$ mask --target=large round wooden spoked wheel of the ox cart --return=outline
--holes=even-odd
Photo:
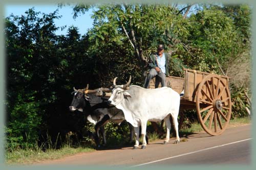
[[[225,79],[211,74],[199,84],[196,94],[197,115],[210,135],[220,135],[231,117],[231,96]]]

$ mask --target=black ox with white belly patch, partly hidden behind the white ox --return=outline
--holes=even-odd
[[[70,111],[81,111],[86,114],[89,122],[95,125],[95,142],[97,147],[100,147],[100,135],[102,136],[103,145],[106,145],[104,125],[110,121],[117,124],[121,124],[124,120],[124,114],[122,110],[117,109],[114,106],[109,106],[106,99],[102,98],[104,96],[103,88],[98,88],[95,90],[88,90],[88,86],[85,89],[74,88],[74,97],[72,103],[69,107]],[[101,95],[101,97],[99,96]],[[133,141],[134,129],[131,124],[129,124],[130,129],[130,143]]]

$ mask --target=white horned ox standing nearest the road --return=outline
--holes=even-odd
[[[146,148],[146,125],[147,121],[160,122],[164,119],[166,125],[166,138],[164,144],[169,142],[170,115],[176,131],[175,143],[180,141],[178,132],[178,114],[180,107],[180,95],[172,88],[162,87],[157,89],[145,89],[132,85],[128,87],[130,80],[125,85],[116,85],[109,99],[109,104],[121,109],[127,122],[135,129],[136,142],[134,149],[139,147],[139,127],[141,126],[141,136],[143,138],[142,149]]]

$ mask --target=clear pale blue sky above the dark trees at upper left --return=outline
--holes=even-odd
[[[57,5],[5,5],[5,17],[9,16],[10,14],[14,15],[25,15],[25,11],[30,8],[35,8],[36,12],[41,13],[52,13],[56,9],[58,9]],[[91,18],[91,11],[86,12],[86,14],[81,14],[76,19],[73,19],[73,6],[64,6],[59,8],[58,15],[62,15],[60,19],[55,20],[55,24],[57,27],[67,26],[66,29],[61,31],[59,29],[56,31],[57,35],[66,35],[67,30],[70,26],[75,26],[79,29],[79,33],[84,35],[87,33],[88,29],[93,27],[93,19]]]

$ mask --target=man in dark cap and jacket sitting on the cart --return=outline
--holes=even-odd
[[[169,56],[164,53],[164,45],[157,46],[157,53],[150,56],[150,71],[145,79],[144,88],[150,87],[150,81],[156,77],[155,88],[161,82],[162,87],[166,87],[165,77],[169,76]]]

